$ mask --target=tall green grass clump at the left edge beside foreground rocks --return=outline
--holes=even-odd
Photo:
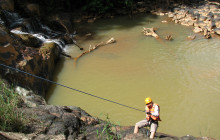
[[[24,132],[27,119],[18,111],[18,95],[0,79],[0,130]]]

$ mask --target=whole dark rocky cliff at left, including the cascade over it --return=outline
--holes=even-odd
[[[54,31],[37,17],[21,17],[14,11],[13,0],[1,1],[0,7],[0,63],[51,80],[62,48],[72,41],[69,32]],[[26,9],[32,13],[39,11],[30,4]],[[58,25],[66,27],[62,22],[57,22]],[[10,83],[45,96],[48,82],[4,66],[0,71]]]

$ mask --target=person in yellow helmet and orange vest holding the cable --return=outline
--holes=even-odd
[[[152,101],[150,97],[145,99],[146,107],[146,119],[139,121],[135,124],[134,134],[138,133],[138,129],[146,126],[150,126],[150,138],[153,139],[157,131],[158,121],[160,120],[160,107]]]

